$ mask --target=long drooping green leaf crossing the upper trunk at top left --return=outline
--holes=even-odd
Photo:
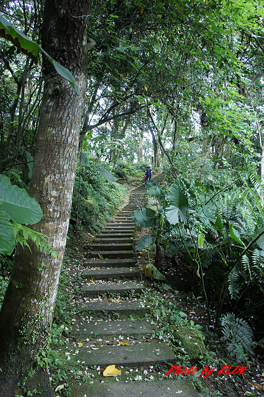
[[[66,67],[58,64],[49,54],[44,51],[41,46],[33,40],[30,40],[24,33],[17,30],[10,22],[0,15],[0,36],[6,40],[10,40],[22,53],[30,57],[35,63],[39,61],[39,51],[46,55],[46,57],[53,64],[57,72],[74,88],[78,95],[80,92],[75,83],[71,72]]]

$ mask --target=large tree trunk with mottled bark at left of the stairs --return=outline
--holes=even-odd
[[[63,261],[87,76],[87,15],[91,0],[46,0],[43,48],[73,74],[81,95],[44,63],[45,86],[29,194],[43,217],[57,258],[18,247],[0,312],[0,397],[54,396],[37,357],[47,350]],[[30,376],[29,376],[30,375]],[[18,386],[19,384],[19,386]]]

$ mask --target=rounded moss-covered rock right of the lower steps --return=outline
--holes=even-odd
[[[176,340],[181,342],[181,346],[190,356],[190,360],[198,361],[200,355],[206,353],[204,336],[194,328],[182,327],[173,333]]]

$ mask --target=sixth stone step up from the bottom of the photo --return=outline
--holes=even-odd
[[[83,270],[83,278],[117,278],[117,277],[138,277],[140,271],[137,267],[101,268]]]

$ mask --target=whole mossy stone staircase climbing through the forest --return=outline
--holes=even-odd
[[[93,241],[87,246],[86,259],[83,263],[81,286],[82,302],[76,304],[77,315],[71,327],[71,334],[76,338],[85,341],[85,338],[94,334],[104,336],[124,335],[130,337],[129,346],[105,344],[94,349],[90,349],[83,343],[82,348],[78,349],[75,357],[85,366],[100,366],[102,371],[111,364],[117,368],[120,366],[149,367],[157,363],[176,363],[175,355],[170,346],[165,342],[155,339],[149,341],[155,328],[146,320],[130,320],[129,314],[135,317],[143,317],[150,308],[144,305],[142,294],[145,286],[140,280],[141,272],[135,266],[133,252],[133,233],[135,223],[132,221],[131,213],[133,210],[147,204],[146,188],[139,187],[132,191],[128,204],[119,211],[113,221],[105,226]],[[137,278],[136,281],[131,279]],[[112,281],[115,280],[115,282]],[[111,280],[111,282],[109,281]],[[127,298],[113,300],[89,300],[85,297],[96,297],[105,294],[109,296],[125,295]],[[141,298],[132,299],[134,294],[141,294]],[[131,297],[131,298],[129,298]],[[90,314],[115,313],[120,317],[112,321],[90,321]],[[89,316],[87,316],[89,315]],[[125,316],[125,318],[124,318]],[[127,316],[127,317],[126,317]],[[95,333],[96,332],[96,333]],[[135,335],[145,337],[146,341],[132,343]],[[103,377],[102,377],[103,378]],[[164,380],[151,382],[107,382],[109,378],[102,379],[105,383],[76,384],[70,386],[70,397],[132,397],[148,396],[162,397],[175,396],[181,393],[182,397],[197,396],[194,388],[186,380]],[[169,383],[168,383],[169,382]],[[179,383],[180,382],[180,383]],[[167,386],[167,384],[169,386]],[[135,388],[135,389],[134,389]]]

